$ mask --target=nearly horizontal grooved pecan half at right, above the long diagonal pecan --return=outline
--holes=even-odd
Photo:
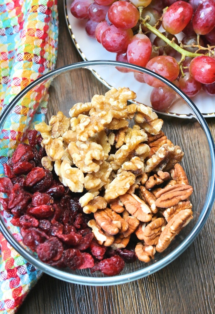
[[[156,193],[155,205],[161,208],[168,208],[177,205],[180,201],[187,199],[193,192],[190,185],[176,184],[165,187]]]

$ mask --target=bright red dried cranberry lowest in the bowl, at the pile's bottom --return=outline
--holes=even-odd
[[[99,270],[107,276],[115,276],[118,275],[124,267],[125,262],[123,259],[120,256],[115,255],[96,263],[95,266],[91,268],[91,272],[93,273],[96,270]]]

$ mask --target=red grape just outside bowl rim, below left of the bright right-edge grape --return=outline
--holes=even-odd
[[[202,83],[197,82],[190,73],[185,73],[184,77],[179,79],[179,88],[188,96],[193,97],[198,94],[202,88]]]

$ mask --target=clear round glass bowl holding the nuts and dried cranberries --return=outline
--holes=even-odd
[[[120,70],[120,71],[119,71]],[[136,73],[136,74],[135,74]],[[24,141],[29,129],[44,119],[49,121],[57,111],[66,116],[71,107],[78,102],[89,102],[98,94],[104,95],[110,87],[129,87],[137,94],[137,104],[150,105],[153,87],[138,82],[134,78],[145,73],[151,82],[166,84],[176,93],[174,104],[168,112],[157,112],[163,119],[163,131],[174,145],[184,152],[181,165],[185,169],[189,183],[193,187],[190,197],[193,205],[193,219],[185,226],[169,247],[162,253],[156,253],[149,263],[136,261],[127,263],[119,275],[105,276],[89,269],[72,271],[66,268],[52,267],[41,262],[8,228],[3,211],[0,215],[0,230],[29,263],[43,272],[68,282],[84,285],[111,285],[129,282],[154,273],[178,257],[196,238],[211,211],[214,201],[214,143],[207,123],[192,101],[174,84],[156,73],[127,63],[114,61],[87,61],[58,68],[38,78],[17,95],[2,113],[0,118],[1,162],[7,161],[13,149]],[[153,84],[152,84],[153,85]],[[47,92],[48,91],[48,92]],[[38,107],[40,101],[40,107]],[[47,110],[46,110],[47,108]],[[10,133],[9,130],[14,132]],[[1,168],[3,169],[3,167]],[[4,176],[1,170],[1,176]]]

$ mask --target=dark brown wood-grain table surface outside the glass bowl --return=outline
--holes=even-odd
[[[82,61],[58,1],[57,67]],[[215,138],[215,118],[207,119]],[[213,211],[194,242],[175,261],[146,278],[108,287],[67,283],[43,274],[18,314],[206,314],[215,313]]]

